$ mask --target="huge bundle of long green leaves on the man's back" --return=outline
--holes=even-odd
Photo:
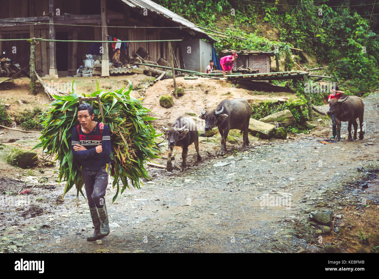
[[[97,86],[97,89],[99,87]],[[144,161],[157,158],[157,149],[154,138],[156,134],[153,125],[157,118],[152,117],[149,109],[145,108],[141,100],[129,95],[132,83],[129,82],[128,90],[121,88],[114,92],[96,91],[91,95],[83,94],[83,97],[100,96],[104,124],[107,124],[111,134],[111,176],[114,177],[113,188],[117,186],[117,192],[113,197],[116,200],[120,181],[122,183],[121,194],[129,185],[140,188],[140,178],[149,178],[144,168]],[[49,105],[52,106],[47,118],[42,124],[41,143],[34,147],[42,147],[50,156],[55,155],[59,160],[59,180],[66,181],[64,194],[75,184],[77,196],[79,192],[84,196],[83,178],[81,176],[80,161],[74,160],[71,147],[72,128],[78,125],[78,99],[77,93],[69,96],[53,96]],[[102,121],[99,104],[97,101],[88,102],[94,108],[94,121]],[[46,152],[45,151],[45,152]],[[63,194],[63,196],[64,196]]]

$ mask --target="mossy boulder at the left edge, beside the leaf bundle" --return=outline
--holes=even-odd
[[[37,153],[20,149],[17,146],[0,144],[0,160],[23,169],[36,166]]]

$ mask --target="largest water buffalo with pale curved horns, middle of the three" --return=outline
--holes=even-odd
[[[243,132],[243,147],[249,145],[247,136],[249,129],[249,120],[252,109],[249,103],[242,98],[223,100],[215,111],[205,111],[202,109],[199,118],[205,119],[205,130],[209,131],[217,126],[221,135],[220,155],[225,155],[226,138],[229,130],[240,129]]]

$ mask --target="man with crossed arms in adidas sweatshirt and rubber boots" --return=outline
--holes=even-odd
[[[111,138],[109,128],[95,117],[89,103],[78,107],[79,125],[72,129],[72,155],[80,160],[81,172],[86,189],[89,211],[95,232],[88,241],[94,241],[109,234],[108,214],[105,206],[105,190],[111,165]]]

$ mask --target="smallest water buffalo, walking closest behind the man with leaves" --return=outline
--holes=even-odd
[[[183,171],[186,168],[188,146],[190,146],[192,143],[195,144],[197,161],[201,161],[201,156],[199,154],[199,132],[197,132],[196,123],[193,119],[179,116],[170,128],[163,126],[163,129],[168,134],[168,171],[172,171],[171,154],[175,146],[180,146],[183,149],[182,168],[180,169],[180,171]]]

